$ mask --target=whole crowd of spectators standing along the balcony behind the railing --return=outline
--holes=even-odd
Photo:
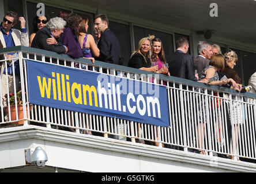
[[[18,21],[20,22],[20,30],[13,28]],[[25,28],[24,17],[17,17],[17,13],[14,11],[7,11],[0,25],[0,47],[23,45],[65,53],[74,59],[85,57],[91,59],[92,63],[95,60],[99,60],[107,63],[123,64],[119,41],[111,29],[108,28],[108,17],[104,14],[99,14],[94,18],[96,40],[91,34],[88,34],[88,18],[81,17],[76,13],[66,14],[65,20],[61,17],[50,19],[47,16],[35,17],[33,23],[33,33],[29,36]],[[211,45],[206,41],[199,41],[198,56],[193,58],[187,53],[189,51],[189,41],[185,37],[176,40],[176,47],[175,53],[165,56],[164,45],[159,38],[153,35],[144,37],[138,42],[137,49],[131,53],[128,66],[167,76],[190,79],[208,85],[219,85],[238,91],[242,90],[242,80],[234,70],[238,61],[238,56],[234,51],[222,55],[219,45]],[[7,60],[13,58],[14,56],[11,54],[6,55]],[[3,57],[0,59],[3,59]],[[18,69],[17,66],[18,62],[14,62],[15,69]],[[11,86],[9,85],[9,93],[14,93],[12,67],[13,65],[7,65],[7,68],[5,68],[5,64],[1,65],[2,94],[7,93],[5,78],[8,78],[9,84],[12,84]],[[18,70],[16,74],[18,74]],[[256,72],[249,81],[249,84],[253,87],[251,90],[253,93],[256,91],[255,75]],[[17,83],[19,79],[16,78],[15,81]],[[204,93],[204,91],[201,91],[201,93]],[[207,121],[205,105],[202,103],[199,104],[201,106],[199,109],[202,109],[199,114],[202,114],[202,116],[197,128],[198,135],[201,135],[198,140],[204,138],[203,129]],[[202,108],[203,106],[204,108]],[[234,108],[242,107],[238,104],[234,105]],[[226,109],[228,109],[228,105]],[[238,111],[233,109],[232,112]],[[232,117],[235,117],[232,120],[234,126],[243,123],[242,114],[232,115]],[[228,116],[227,119],[229,127],[231,127],[231,120]],[[238,128],[234,129],[238,130]],[[235,135],[238,136],[238,132]],[[205,154],[205,152],[201,151],[200,154]]]

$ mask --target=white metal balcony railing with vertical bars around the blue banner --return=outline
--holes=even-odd
[[[191,149],[205,151],[210,156],[217,153],[231,155],[235,159],[238,157],[256,159],[255,94],[238,93],[224,87],[204,85],[173,76],[154,75],[152,72],[99,61],[92,64],[88,59],[74,60],[67,55],[58,55],[41,49],[22,46],[0,49],[0,53],[5,55],[13,52],[17,52],[18,57],[12,59],[12,64],[14,60],[18,60],[20,68],[19,74],[14,69],[12,72],[18,78],[14,78],[11,84],[9,79],[5,78],[5,82],[9,85],[1,85],[0,96],[1,99],[5,99],[2,88],[6,87],[7,94],[13,90],[14,97],[17,97],[16,91],[19,89],[13,84],[18,79],[23,99],[22,109],[29,109],[29,113],[24,111],[23,117],[18,117],[20,111],[18,111],[18,100],[15,99],[13,105],[15,114],[11,116],[12,105],[7,95],[6,102],[1,101],[0,125],[2,127],[18,123],[24,126],[36,124],[49,129],[57,128],[76,133],[91,131],[97,136],[139,141],[186,152]],[[150,84],[153,81],[156,86],[164,86],[167,91],[168,127],[116,117],[114,111],[110,114],[111,116],[100,116],[50,105],[32,104],[29,102],[28,60],[48,63],[51,66],[62,66],[65,70],[91,71]],[[6,59],[1,60],[1,63],[5,68],[10,64]],[[3,72],[1,72],[2,75]],[[0,82],[2,80],[1,77]],[[10,89],[12,85],[14,89]],[[216,94],[220,97],[216,97]],[[201,123],[201,118],[205,121],[204,124]]]

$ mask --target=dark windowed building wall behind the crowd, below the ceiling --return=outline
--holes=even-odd
[[[32,33],[32,20],[36,15],[37,3],[42,1],[35,0],[0,0],[0,6],[3,16],[3,11],[14,10],[19,15],[27,17],[27,25],[29,33]],[[160,24],[146,20],[141,17],[134,17],[129,14],[119,14],[116,12],[110,12],[106,9],[102,9],[92,6],[87,6],[85,3],[69,2],[69,1],[49,1],[43,2],[46,5],[46,14],[51,17],[57,16],[59,10],[65,9],[71,12],[80,13],[82,16],[89,18],[89,33],[93,33],[93,16],[98,13],[107,14],[110,18],[110,28],[116,34],[121,44],[122,54],[125,57],[124,65],[127,66],[131,53],[137,48],[138,40],[142,37],[148,36],[148,34],[155,34],[159,37],[164,44],[164,50],[166,54],[174,53],[175,40],[181,34],[186,36],[190,40],[190,53],[194,57],[197,56],[197,43],[198,41],[205,40],[203,35],[195,33],[194,30],[186,30],[181,28],[175,28],[171,24]],[[21,8],[22,7],[22,8]],[[0,16],[1,16],[0,14]],[[1,17],[2,17],[1,16]],[[18,25],[17,25],[18,26]],[[18,28],[18,27],[17,27]],[[243,43],[243,41],[229,40],[227,38],[212,36],[210,43],[219,44],[225,51],[229,48],[235,49],[238,53],[238,64],[235,70],[238,71],[240,78],[243,80],[243,84],[247,85],[250,76],[255,72],[256,68],[256,45]]]

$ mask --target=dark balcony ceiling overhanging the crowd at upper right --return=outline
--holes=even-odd
[[[77,3],[189,30],[213,30],[216,36],[256,43],[256,1],[253,0],[75,0]],[[218,17],[210,17],[217,3]],[[117,17],[118,18],[118,17]]]

